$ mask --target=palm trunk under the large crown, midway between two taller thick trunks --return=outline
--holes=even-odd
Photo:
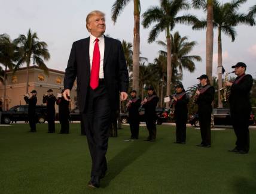
[[[166,29],[166,42],[167,42],[167,83],[166,83],[166,96],[170,96],[170,84],[172,82],[172,44],[170,40],[170,31]],[[166,103],[166,108],[169,107],[169,102]]]

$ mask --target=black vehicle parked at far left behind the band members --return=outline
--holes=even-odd
[[[36,119],[37,123],[44,123],[47,120],[46,106],[36,105]],[[17,105],[10,108],[8,111],[2,112],[2,122],[9,124],[11,121],[28,121],[28,105]]]

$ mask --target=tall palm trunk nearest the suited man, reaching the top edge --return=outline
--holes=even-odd
[[[139,0],[134,0],[134,29],[133,29],[133,80],[132,80],[132,87],[136,91],[139,91],[139,20],[140,20],[140,10],[139,10]]]

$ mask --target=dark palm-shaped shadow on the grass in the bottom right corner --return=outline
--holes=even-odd
[[[251,179],[247,177],[235,177],[233,186],[237,194],[256,193],[256,164],[252,165]]]

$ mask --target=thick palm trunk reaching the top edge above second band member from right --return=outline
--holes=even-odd
[[[212,55],[214,48],[214,10],[213,0],[207,1],[207,30],[206,30],[206,75],[212,85]]]

